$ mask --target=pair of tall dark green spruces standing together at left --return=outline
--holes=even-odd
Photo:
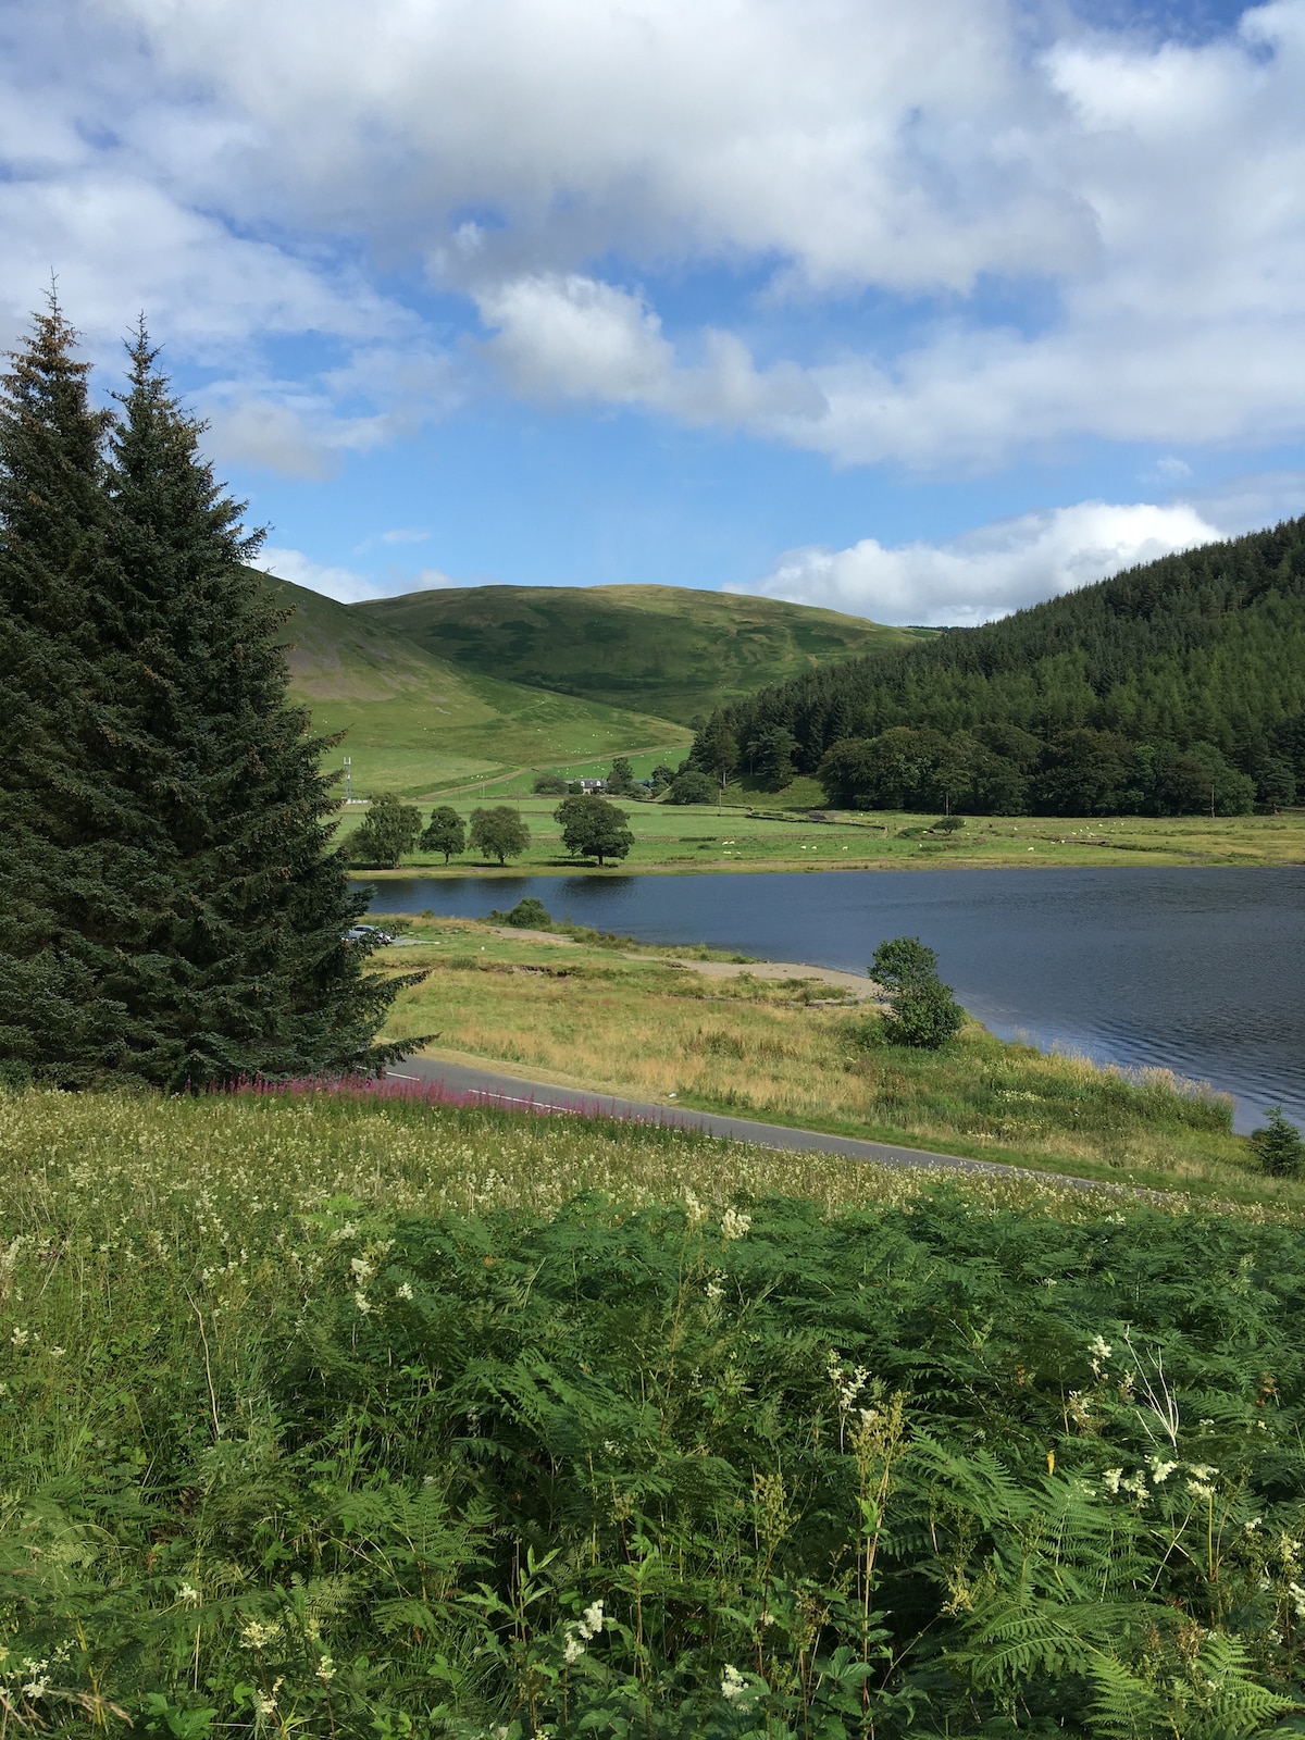
[[[400,983],[345,933],[336,738],[141,324],[115,409],[54,296],[0,379],[0,1074],[371,1070]]]

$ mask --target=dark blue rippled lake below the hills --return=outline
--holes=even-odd
[[[1305,868],[844,870],[776,875],[405,877],[372,912],[484,917],[534,894],[651,943],[865,971],[887,936],[938,950],[1002,1037],[1164,1065],[1305,1124]]]

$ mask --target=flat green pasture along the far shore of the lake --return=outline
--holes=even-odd
[[[656,757],[644,757],[654,760]],[[600,767],[602,771],[602,767]],[[517,790],[527,781],[515,781]],[[503,802],[512,788],[485,786],[452,802],[463,814],[484,804]],[[621,867],[607,875],[630,870],[828,870],[828,868],[1000,868],[1046,865],[1296,865],[1305,863],[1305,811],[1284,816],[1178,816],[1150,820],[1114,818],[1028,818],[981,816],[950,839],[931,833],[936,814],[828,814],[813,821],[806,809],[780,811],[774,799],[757,793],[736,795],[733,806],[715,807],[623,802],[635,844]],[[807,795],[807,793],[804,793]],[[505,873],[546,875],[574,870],[560,846],[553,821],[557,799],[512,797],[531,828],[529,851]],[[760,814],[750,816],[755,804]],[[358,825],[362,813],[346,814],[343,837]],[[458,858],[451,875],[468,868],[498,873],[498,865],[478,865]],[[404,873],[444,873],[444,860],[414,853],[404,860]],[[371,872],[369,872],[371,873]],[[385,872],[376,872],[385,875]],[[595,875],[600,872],[593,872]]]

